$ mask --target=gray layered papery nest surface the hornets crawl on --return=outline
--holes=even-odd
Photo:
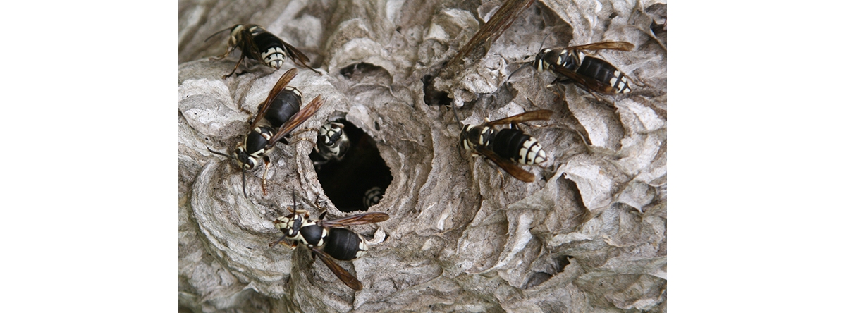
[[[464,124],[537,109],[549,122],[526,127],[547,151],[526,184],[459,154],[448,107],[423,101],[422,78],[468,41],[501,3],[429,0],[180,2],[179,304],[212,311],[665,311],[667,299],[666,4],[562,1],[532,4],[491,51],[436,86],[455,97]],[[206,148],[231,151],[285,70],[250,63],[222,80],[238,53],[221,61],[236,23],[263,25],[308,55],[321,74],[291,82],[304,104],[326,105],[300,129],[345,118],[376,140],[393,182],[387,222],[354,227],[372,238],[360,260],[339,262],[364,284],[354,292],[305,249],[268,244],[272,220],[292,191],[338,211],[321,188],[307,140],[270,154],[247,173]],[[614,97],[614,107],[552,74],[519,68],[545,47],[629,41],[632,52],[600,52],[647,86]],[[357,65],[358,64],[358,65]],[[242,66],[242,69],[244,67]],[[341,74],[343,73],[343,74]],[[564,91],[566,90],[566,91]],[[590,145],[585,144],[585,140]],[[504,178],[504,181],[503,181]],[[304,206],[312,215],[316,208]]]

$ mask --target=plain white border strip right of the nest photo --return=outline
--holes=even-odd
[[[668,4],[673,312],[843,310],[844,7]]]

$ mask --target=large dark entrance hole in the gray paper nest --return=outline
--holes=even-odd
[[[349,148],[343,157],[328,160],[317,150],[312,151],[309,157],[315,164],[317,179],[338,210],[367,211],[382,200],[393,180],[391,169],[379,155],[376,141],[370,135],[346,120],[334,123],[343,124]]]

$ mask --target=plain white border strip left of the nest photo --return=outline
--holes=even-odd
[[[3,310],[178,310],[178,13],[0,5]]]

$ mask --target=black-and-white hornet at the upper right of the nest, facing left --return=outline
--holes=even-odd
[[[541,43],[541,47],[542,47]],[[631,51],[634,45],[625,41],[602,41],[582,46],[543,49],[531,64],[539,72],[551,70],[558,75],[553,82],[574,83],[596,96],[593,92],[613,95],[629,93],[629,77],[607,61],[585,54],[586,50]],[[516,72],[516,71],[515,71]],[[599,96],[596,96],[599,99]]]

